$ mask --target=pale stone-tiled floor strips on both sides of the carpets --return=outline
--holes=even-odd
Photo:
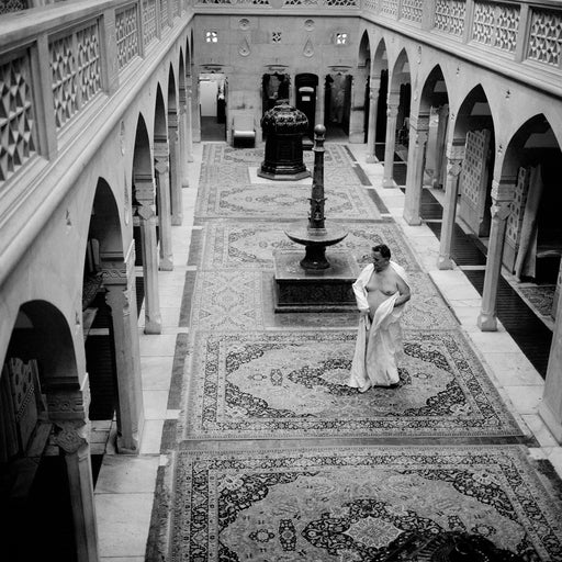
[[[140,314],[139,338],[146,418],[140,454],[115,456],[110,445],[110,436],[95,487],[100,557],[104,561],[138,562],[145,560],[145,557],[148,560],[150,557],[146,553],[154,552],[154,542],[162,540],[161,536],[149,535],[149,528],[157,474],[173,459],[172,454],[161,453],[172,445],[169,440],[166,442],[170,436],[167,428],[180,415],[177,393],[178,378],[183,373],[183,364],[175,353],[178,338],[186,338],[189,327],[187,324],[184,327],[180,326],[178,311],[187,273],[194,269],[191,263],[188,266],[188,256],[192,235],[196,236],[200,231],[199,226],[193,225],[193,217],[202,148],[201,144],[194,146],[194,161],[189,166],[190,187],[183,190],[183,224],[172,228],[175,270],[159,272],[162,334],[144,335],[144,316]],[[397,189],[381,188],[383,168],[380,164],[364,164],[366,146],[349,145],[349,148],[372,183],[371,189],[386,205],[389,214],[405,235],[418,261],[461,323],[499,395],[510,406],[525,432],[536,438],[538,446],[530,448],[531,456],[536,459],[548,459],[562,476],[562,449],[537,412],[542,395],[542,379],[502,326],[497,333],[483,334],[477,329],[477,292],[461,270],[439,271],[436,268],[438,240],[435,235],[426,226],[412,227],[404,222],[403,193]],[[306,324],[306,318],[303,322]],[[157,497],[159,502],[165,499],[162,495]],[[161,528],[159,530],[160,533],[165,531]]]

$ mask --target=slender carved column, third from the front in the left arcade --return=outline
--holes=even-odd
[[[158,296],[158,241],[154,180],[148,175],[135,175],[135,198],[140,220],[140,247],[145,278],[145,334],[161,334],[160,300]]]

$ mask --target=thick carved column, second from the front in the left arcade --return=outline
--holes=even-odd
[[[120,256],[102,255],[105,302],[111,308],[117,375],[117,450],[138,453],[144,425],[140,352],[137,330],[135,290],[135,249],[125,260]]]

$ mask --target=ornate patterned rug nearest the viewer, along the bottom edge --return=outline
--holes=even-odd
[[[562,512],[519,447],[180,451],[175,562],[378,562],[416,531],[562,560]],[[557,506],[558,503],[558,506]]]

